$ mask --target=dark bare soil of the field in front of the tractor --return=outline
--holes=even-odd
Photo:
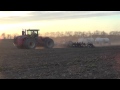
[[[0,41],[0,79],[119,79],[120,46],[17,49]]]

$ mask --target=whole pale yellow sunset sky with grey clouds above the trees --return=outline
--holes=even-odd
[[[0,32],[120,30],[120,11],[0,11]]]

